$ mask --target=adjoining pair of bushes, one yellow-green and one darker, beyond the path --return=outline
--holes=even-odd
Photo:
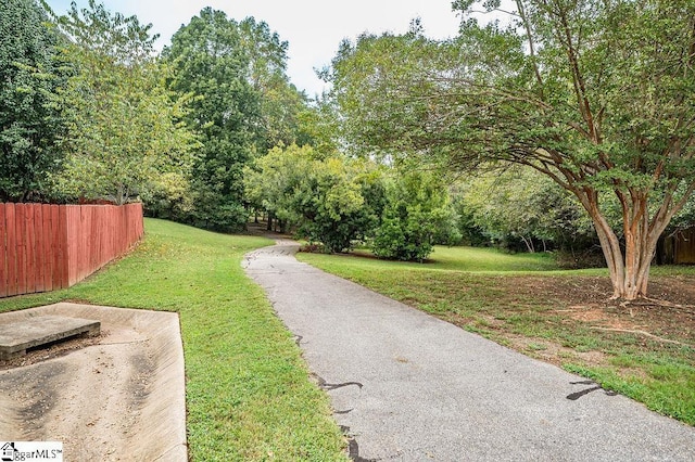
[[[421,261],[460,239],[448,193],[433,175],[394,174],[305,145],[276,147],[244,171],[247,197],[330,253],[370,239],[383,258]]]

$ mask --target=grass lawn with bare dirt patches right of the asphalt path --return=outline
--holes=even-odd
[[[609,304],[605,269],[560,271],[548,255],[467,247],[437,247],[422,265],[298,258],[695,425],[695,307]],[[695,272],[660,267],[653,280],[687,288]]]

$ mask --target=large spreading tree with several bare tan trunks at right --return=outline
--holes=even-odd
[[[614,297],[646,296],[657,240],[695,188],[695,1],[518,0],[486,25],[471,14],[500,1],[453,4],[455,39],[415,27],[343,44],[332,78],[351,140],[547,175],[591,216]]]

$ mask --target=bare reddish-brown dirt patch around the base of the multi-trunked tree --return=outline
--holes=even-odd
[[[654,299],[629,304],[609,299],[612,290],[605,277],[505,277],[490,280],[489,285],[500,293],[489,301],[497,307],[495,316],[532,313],[539,317],[539,323],[554,325],[558,331],[589,329],[599,341],[630,336],[644,351],[673,346],[695,348],[695,277],[653,277],[649,291]],[[442,318],[462,328],[482,325],[493,339],[555,364],[602,367],[611,360],[599,349],[564,346],[558,337],[515,333],[514,325],[485,312],[447,312]],[[621,346],[621,341],[609,341]]]

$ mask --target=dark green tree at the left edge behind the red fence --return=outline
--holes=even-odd
[[[61,39],[35,0],[0,8],[0,201],[46,197],[60,167],[63,120],[56,89],[66,73]]]

